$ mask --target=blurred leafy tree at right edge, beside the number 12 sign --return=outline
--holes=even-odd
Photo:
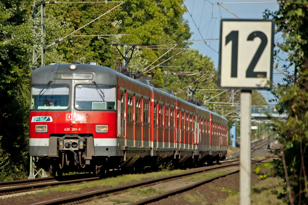
[[[286,180],[286,188],[281,194],[290,204],[308,203],[308,185],[306,167],[308,145],[308,1],[288,0],[279,3],[279,10],[266,11],[265,17],[273,17],[276,32],[282,32],[284,42],[279,45],[288,52],[289,65],[294,69],[284,80],[286,85],[279,85],[275,94],[279,99],[279,112],[288,112],[286,121],[275,120],[277,132],[281,136],[283,147],[282,160],[276,160],[278,175]],[[276,52],[278,54],[278,52]],[[276,65],[277,66],[277,65]]]

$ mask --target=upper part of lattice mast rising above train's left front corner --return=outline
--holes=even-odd
[[[41,66],[45,65],[45,4],[45,1],[34,1],[33,3],[32,17],[34,20],[34,45],[32,55],[32,69],[36,69],[38,67],[39,61],[41,61]]]

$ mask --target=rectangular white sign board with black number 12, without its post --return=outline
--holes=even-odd
[[[218,87],[270,89],[274,21],[222,19]]]

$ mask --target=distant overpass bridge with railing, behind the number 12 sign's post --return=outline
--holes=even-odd
[[[239,112],[239,116],[241,116],[240,106],[238,106],[238,112]],[[268,117],[265,113],[268,113],[270,114],[270,116],[276,117],[279,120],[286,120],[288,117],[286,112],[279,114],[279,112],[276,109],[276,105],[253,105],[251,106],[251,119],[267,120]]]

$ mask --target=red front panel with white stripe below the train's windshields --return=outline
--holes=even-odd
[[[106,126],[98,133],[100,125]],[[48,156],[50,137],[66,134],[93,136],[95,156],[117,154],[116,112],[30,112],[29,133],[30,156]]]

